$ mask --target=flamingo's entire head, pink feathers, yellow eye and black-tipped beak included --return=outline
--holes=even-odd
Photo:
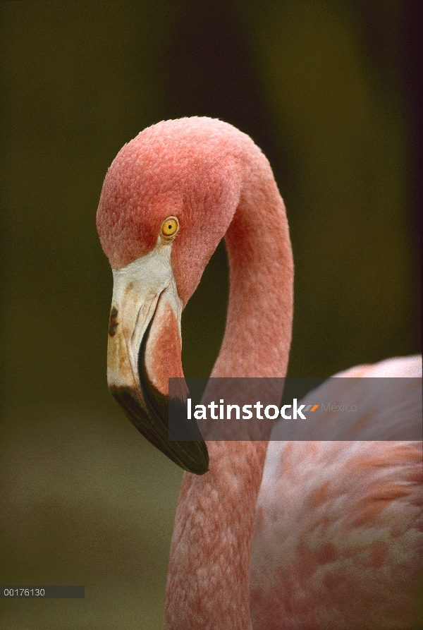
[[[181,313],[240,199],[243,138],[205,118],[149,127],[114,159],[97,210],[114,275],[109,389],[149,442],[197,474],[208,470],[207,446],[199,431],[196,441],[169,440],[168,378],[183,377]]]

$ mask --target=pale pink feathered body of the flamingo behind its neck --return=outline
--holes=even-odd
[[[363,375],[421,377],[422,358],[338,376]],[[421,401],[415,380],[396,423],[421,423]],[[269,442],[252,551],[253,627],[419,627],[422,507],[421,442]]]

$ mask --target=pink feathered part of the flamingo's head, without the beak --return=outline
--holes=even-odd
[[[231,223],[252,140],[208,118],[163,121],[125,145],[112,162],[97,210],[97,230],[113,269],[150,252],[166,217],[180,229],[171,261],[187,303]]]

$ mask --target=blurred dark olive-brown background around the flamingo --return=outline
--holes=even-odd
[[[143,128],[213,116],[264,150],[295,257],[289,375],[419,351],[416,7],[392,0],[2,1],[0,600],[8,630],[159,629],[182,471],[109,395],[95,213]],[[223,245],[183,315],[207,376]],[[204,342],[207,329],[207,342]]]

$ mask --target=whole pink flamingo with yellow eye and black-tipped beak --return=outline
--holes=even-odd
[[[230,292],[212,377],[286,375],[293,256],[261,150],[219,120],[151,126],[107,171],[97,230],[114,275],[109,389],[147,440],[185,471],[164,627],[416,627],[419,442],[168,440],[168,377],[183,377],[180,316],[223,236]],[[421,376],[422,359],[345,375]],[[419,396],[417,387],[407,408],[414,421]]]

